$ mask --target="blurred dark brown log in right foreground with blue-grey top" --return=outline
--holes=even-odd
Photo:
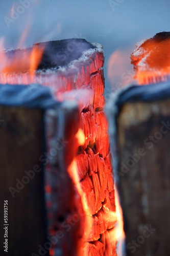
[[[169,88],[129,87],[108,106],[128,255],[170,251]]]

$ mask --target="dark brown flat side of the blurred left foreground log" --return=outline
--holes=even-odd
[[[38,253],[39,244],[44,245],[47,233],[44,174],[39,161],[45,148],[43,113],[38,109],[0,106],[0,116],[4,120],[0,126],[1,255],[6,253],[3,208],[4,200],[8,200],[7,254],[30,256]],[[38,172],[33,172],[34,178],[28,178],[25,170],[34,169]],[[16,179],[22,184],[17,186]],[[17,190],[11,193],[10,187]]]

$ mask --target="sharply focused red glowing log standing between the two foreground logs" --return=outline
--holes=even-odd
[[[38,88],[38,83],[53,89],[57,100],[61,102],[70,100],[78,103],[79,121],[75,121],[70,114],[70,122],[72,120],[76,127],[77,125],[79,127],[77,136],[78,140],[81,141],[80,146],[77,145],[75,150],[71,147],[75,133],[67,129],[65,135],[69,134],[71,142],[65,147],[67,153],[60,160],[64,163],[68,158],[66,164],[70,163],[72,158],[74,160],[69,166],[67,164],[66,176],[69,174],[76,187],[75,193],[77,193],[78,199],[81,197],[81,200],[78,200],[75,205],[75,211],[80,212],[79,208],[81,209],[81,204],[83,205],[82,213],[79,214],[80,230],[77,230],[77,236],[80,240],[78,242],[79,250],[77,254],[71,254],[68,250],[68,245],[73,239],[73,237],[71,239],[69,237],[72,236],[72,232],[75,232],[77,227],[77,225],[72,225],[71,229],[74,230],[65,234],[64,242],[57,244],[53,248],[52,254],[57,255],[57,251],[61,250],[64,256],[93,256],[106,255],[106,253],[109,253],[110,256],[116,255],[116,241],[112,243],[114,238],[111,240],[109,236],[105,236],[106,232],[114,228],[116,218],[113,214],[115,213],[115,202],[107,133],[108,124],[103,111],[105,99],[102,46],[90,44],[84,39],[65,39],[36,44],[27,49],[5,50],[1,55],[1,58],[4,58],[4,66],[0,74],[1,83],[25,84],[30,93]],[[18,68],[17,63],[21,62],[24,62],[24,65],[22,68]],[[67,118],[69,119],[69,113]],[[55,127],[53,117],[51,117],[51,122]],[[47,126],[50,125],[47,123]],[[53,137],[55,129],[49,130],[49,133],[48,152],[51,149],[53,141],[51,137]],[[63,231],[62,225],[59,225],[59,220],[62,222],[64,212],[66,215],[68,214],[65,205],[66,200],[62,199],[62,195],[63,188],[66,189],[66,194],[69,190],[67,186],[62,186],[63,183],[55,181],[53,178],[53,168],[56,165],[58,166],[57,162],[52,162],[50,166],[55,195],[52,198],[53,202],[56,198],[56,204],[49,202],[49,205],[56,205],[57,207],[54,211],[48,212],[48,232],[50,230],[51,236],[53,236],[51,230]],[[62,166],[59,166],[59,169],[61,169],[61,179],[64,182],[65,173],[62,171]],[[47,186],[47,188],[49,187]],[[72,201],[71,193],[69,197],[67,198],[68,202]],[[54,225],[56,220],[57,224]],[[69,221],[71,218],[66,224],[70,224]],[[81,236],[82,230],[83,236]],[[74,245],[72,243],[71,248],[74,248]]]

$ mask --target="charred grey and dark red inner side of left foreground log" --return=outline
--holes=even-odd
[[[57,255],[58,250],[64,255],[77,255],[79,240],[83,236],[84,216],[79,214],[83,211],[82,202],[68,173],[68,167],[77,153],[78,142],[75,135],[79,127],[78,114],[75,103],[65,101],[59,109],[45,113],[49,156],[45,169],[47,230],[51,239],[55,240],[51,250],[54,255]]]

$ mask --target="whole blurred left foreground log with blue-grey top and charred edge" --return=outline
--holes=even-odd
[[[70,146],[72,152],[77,146],[78,108],[74,102],[56,102],[50,90],[43,87],[30,94],[25,86],[1,85],[0,95],[0,201],[3,208],[4,200],[8,200],[7,251],[10,255],[39,255],[46,251],[48,255],[53,247],[52,255],[57,244],[65,255],[74,255],[82,236],[80,219],[75,214],[82,204],[67,167],[74,158]],[[69,219],[75,222],[68,232]],[[0,225],[4,230],[3,215]],[[0,236],[4,255],[4,233]],[[70,243],[65,246],[67,239]]]

